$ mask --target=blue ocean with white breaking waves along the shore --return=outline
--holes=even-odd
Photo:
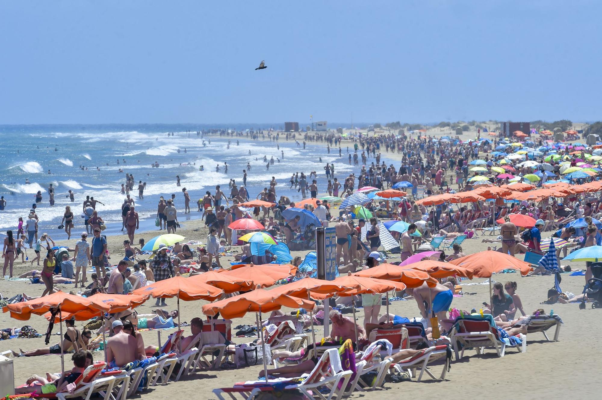
[[[204,129],[219,127],[207,126]],[[343,148],[343,157],[339,157],[338,149],[331,149],[331,154],[327,154],[325,146],[307,142],[304,150],[302,140],[300,147],[297,147],[293,140],[287,142],[285,135],[280,136],[278,149],[276,142],[268,140],[267,134],[265,140],[259,136],[257,141],[236,135],[209,135],[201,139],[196,132],[188,134],[184,132],[185,129],[203,128],[163,124],[140,127],[0,126],[5,149],[0,162],[0,195],[7,201],[5,210],[0,211],[0,229],[14,229],[16,233],[18,218],[26,219],[35,202],[36,192],[41,190],[43,200],[36,210],[40,232],[48,232],[55,239],[66,238],[65,232],[57,229],[57,226],[65,206],[70,205],[75,214],[72,235],[78,237],[79,232],[85,230],[84,219],[79,217],[85,196],[93,196],[104,203],[98,204],[96,210],[107,223],[105,233],[120,231],[121,205],[125,198],[120,193],[120,187],[122,183],[125,184],[126,173],[134,175],[136,184],[130,195],[135,199],[141,220],[140,229],[147,230],[154,228],[160,196],[167,199],[175,193],[180,221],[200,217],[197,199],[202,198],[206,190],[214,193],[216,185],[220,185],[223,192],[229,195],[230,179],[234,179],[238,186],[243,184],[243,169],[246,169],[247,163],[251,165],[250,171],[247,171],[247,190],[251,198],[255,198],[272,177],[276,177],[278,197],[285,195],[293,201],[300,200],[300,193],[294,187],[289,189],[290,177],[294,172],[309,174],[311,171],[318,173],[318,193],[320,196],[326,195],[323,169],[326,162],[335,164],[335,176],[339,178],[351,172],[358,175],[359,172],[357,166],[349,165],[346,147]],[[232,126],[232,129],[241,130],[243,127]],[[168,132],[173,132],[174,136],[168,136]],[[298,133],[297,139],[302,135]],[[231,141],[229,148],[228,141]],[[281,151],[284,151],[284,159]],[[268,160],[271,157],[281,160],[267,170],[264,156]],[[320,157],[322,163],[318,162]],[[383,160],[388,162],[386,158]],[[152,166],[155,162],[159,163],[158,168]],[[228,174],[224,172],[224,162],[228,163]],[[218,164],[220,172],[216,172]],[[204,166],[204,171],[199,171],[200,165]],[[123,169],[123,172],[119,172],[119,169]],[[51,173],[48,174],[48,171]],[[176,186],[176,175],[181,179],[181,187]],[[139,180],[146,182],[144,199],[138,199]],[[55,187],[54,206],[49,204],[47,190],[50,183]],[[187,188],[191,197],[192,212],[186,216],[182,187]],[[74,202],[69,200],[68,190],[75,192]]]

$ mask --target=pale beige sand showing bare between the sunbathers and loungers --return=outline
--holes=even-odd
[[[445,133],[440,133],[444,135]],[[465,134],[465,137],[469,137]],[[470,136],[471,137],[471,136]],[[388,157],[398,157],[397,154]],[[193,213],[196,211],[193,211]],[[205,243],[206,229],[200,220],[186,222],[183,215],[180,216],[182,228],[178,231],[188,239],[200,239]],[[200,230],[197,230],[200,229]],[[136,235],[136,240],[144,237],[146,240],[154,237],[158,231],[141,232]],[[548,237],[551,232],[545,232]],[[108,238],[108,244],[114,259],[119,259],[123,255],[122,241],[126,235],[116,235]],[[467,239],[462,247],[467,254],[486,250],[488,244],[481,242],[481,237]],[[75,246],[75,240],[64,241],[60,244],[69,244]],[[295,255],[305,255],[306,252],[294,252]],[[231,258],[224,260],[228,265]],[[387,261],[399,261],[399,258],[391,258]],[[585,262],[571,262],[573,268],[585,268]],[[29,263],[15,264],[14,274],[18,275],[30,270]],[[563,274],[562,289],[576,294],[583,289],[585,279],[583,276],[571,277]],[[435,398],[437,396],[447,399],[464,399],[467,396],[497,396],[502,398],[527,399],[527,398],[577,398],[583,395],[591,395],[598,389],[597,379],[599,372],[596,371],[596,355],[602,354],[600,349],[600,338],[598,330],[602,328],[602,318],[600,310],[592,310],[588,305],[586,310],[580,311],[576,304],[555,304],[553,306],[540,305],[545,300],[547,289],[553,286],[553,277],[524,277],[521,278],[517,273],[497,274],[494,279],[498,282],[507,282],[515,280],[518,282],[517,293],[523,300],[524,309],[527,313],[536,308],[542,307],[546,312],[550,307],[556,314],[562,317],[565,324],[560,330],[559,342],[547,342],[541,333],[529,335],[527,337],[527,352],[517,353],[514,348],[507,350],[506,356],[498,359],[495,352],[486,350],[483,356],[477,356],[474,351],[467,351],[461,361],[454,360],[452,369],[448,372],[445,381],[425,381],[423,383],[407,382],[402,384],[385,384],[384,390],[375,392],[354,393],[353,398],[363,397],[366,400],[373,399],[397,399],[400,396],[420,396]],[[482,282],[483,279],[474,279],[472,282]],[[463,283],[472,283],[466,281]],[[64,291],[69,291],[73,285],[57,285]],[[29,295],[39,295],[42,293],[44,285],[29,284],[28,282],[10,282],[0,280],[0,292],[5,296],[12,296],[20,292],[26,292]],[[475,295],[465,295],[455,298],[453,306],[461,309],[480,308],[482,302],[488,301],[488,285],[467,286],[469,292],[476,292]],[[175,309],[176,300],[167,300],[168,309]],[[191,318],[200,316],[200,308],[205,304],[203,301],[181,302],[181,320],[190,321]],[[149,300],[146,304],[138,308],[141,314],[150,314],[151,306],[154,306],[154,300]],[[285,312],[290,310],[285,309]],[[385,312],[383,307],[381,312]],[[416,303],[411,301],[392,302],[390,312],[397,315],[414,317],[419,314]],[[363,321],[363,312],[357,313],[359,322]],[[255,315],[249,314],[244,318],[234,320],[232,326],[238,324],[254,324]],[[0,328],[22,326],[29,324],[40,333],[46,331],[48,321],[44,318],[34,315],[29,321],[22,322],[11,319],[7,313],[0,314]],[[84,323],[76,323],[81,328]],[[58,332],[58,326],[55,327]],[[161,331],[161,338],[173,330]],[[185,328],[185,334],[190,335],[190,329]],[[317,338],[322,337],[321,329],[317,330]],[[143,332],[145,344],[157,344],[157,332]],[[235,342],[243,343],[252,338],[236,338]],[[58,336],[52,336],[50,345],[58,342]],[[0,351],[8,349],[33,350],[34,348],[45,347],[43,338],[38,339],[10,339],[0,341]],[[67,356],[68,357],[68,356]],[[102,359],[101,351],[95,352],[96,359]],[[60,371],[59,356],[38,356],[38,357],[20,357],[13,359],[15,369],[15,383],[21,384],[31,374],[43,374],[46,371]],[[69,358],[66,359],[66,366],[70,366]],[[70,367],[69,367],[70,368]],[[441,366],[435,366],[433,373],[437,376],[441,372]],[[171,382],[167,385],[158,385],[152,387],[147,393],[143,394],[145,399],[163,399],[167,396],[178,398],[179,396],[190,395],[193,390],[202,390],[202,393],[194,398],[215,399],[211,390],[216,387],[232,386],[237,381],[244,381],[256,378],[261,369],[259,366],[222,370],[197,372],[190,376],[182,378],[181,381]],[[593,373],[592,373],[593,371]],[[592,379],[592,377],[594,379]],[[0,391],[1,392],[1,391]],[[138,395],[137,395],[138,396]]]

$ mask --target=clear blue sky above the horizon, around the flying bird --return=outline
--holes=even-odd
[[[3,0],[0,124],[597,120],[601,13],[599,0]]]

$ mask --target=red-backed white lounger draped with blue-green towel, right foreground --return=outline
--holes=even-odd
[[[525,353],[527,338],[525,335],[518,335],[518,338],[522,343],[514,346],[518,351]],[[493,347],[497,356],[503,357],[506,353],[506,345],[510,342],[509,339],[502,340],[500,338],[500,333],[490,314],[485,314],[483,318],[477,315],[458,317],[450,333],[450,341],[456,354],[456,360],[464,357],[464,350],[467,348],[475,348],[477,354],[483,354],[486,347]],[[458,355],[460,348],[462,348],[462,353]]]

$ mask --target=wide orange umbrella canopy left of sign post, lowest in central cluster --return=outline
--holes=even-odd
[[[282,306],[313,310],[315,303],[273,290],[255,289],[219,300],[219,302],[206,304],[202,307],[202,312],[205,315],[216,315],[219,312],[223,318],[232,319],[244,317],[247,312],[272,312],[279,310]]]

